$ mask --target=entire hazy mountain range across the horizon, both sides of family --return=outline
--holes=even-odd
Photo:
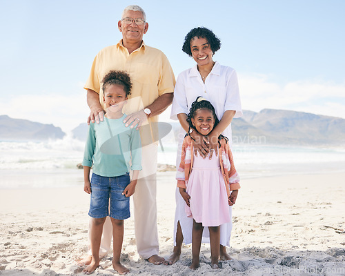
[[[246,144],[303,144],[345,145],[345,119],[291,110],[264,109],[260,112],[244,110],[241,118],[233,119],[233,143]],[[170,123],[175,135],[178,121]],[[72,135],[84,141],[87,124],[80,124]],[[23,119],[0,116],[1,140],[61,139],[61,128]],[[166,137],[166,139],[169,139]]]

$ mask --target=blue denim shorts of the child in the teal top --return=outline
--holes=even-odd
[[[130,198],[122,195],[128,184],[130,184],[129,173],[119,177],[101,177],[92,173],[88,215],[95,219],[107,216],[114,219],[128,219],[130,217]]]

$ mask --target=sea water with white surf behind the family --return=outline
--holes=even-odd
[[[0,141],[0,189],[83,185],[85,141],[70,136],[55,141]],[[275,175],[345,172],[345,148],[233,144],[242,179]],[[162,139],[158,163],[176,164],[177,143]]]

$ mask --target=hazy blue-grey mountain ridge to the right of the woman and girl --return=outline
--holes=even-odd
[[[345,144],[345,119],[291,110],[244,110],[233,120],[239,135],[264,135],[268,144]]]

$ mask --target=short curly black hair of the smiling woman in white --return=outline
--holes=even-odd
[[[198,27],[190,30],[186,37],[184,38],[184,45],[182,46],[182,50],[190,57],[192,57],[192,51],[190,50],[190,42],[195,37],[197,38],[204,38],[210,44],[210,48],[213,52],[217,52],[220,49],[221,43],[220,39],[213,33],[212,30],[209,30],[205,27]]]

